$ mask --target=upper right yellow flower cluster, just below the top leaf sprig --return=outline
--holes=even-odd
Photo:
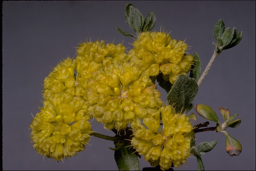
[[[133,45],[134,49],[130,50],[131,61],[143,69],[149,69],[151,76],[162,72],[163,79],[171,84],[180,74],[186,75],[194,63],[193,56],[185,54],[187,44],[181,40],[177,42],[168,33],[142,32]]]

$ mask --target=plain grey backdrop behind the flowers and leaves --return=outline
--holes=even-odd
[[[29,125],[42,106],[44,78],[57,63],[75,56],[75,47],[85,40],[114,40],[132,47],[131,37],[115,29],[134,33],[125,23],[124,9],[133,3],[146,15],[154,11],[154,29],[172,31],[171,37],[186,39],[197,52],[205,69],[215,41],[214,24],[223,19],[226,27],[243,31],[239,45],[222,52],[199,88],[194,104],[214,109],[222,122],[218,107],[239,113],[239,127],[228,128],[240,141],[242,153],[230,157],[225,151],[222,133],[197,133],[197,145],[218,140],[216,147],[203,156],[206,170],[255,170],[255,1],[4,1],[2,3],[3,54],[3,169],[4,170],[118,170],[108,149],[113,142],[92,137],[90,145],[65,164],[37,154],[33,149]],[[154,30],[153,29],[153,30]],[[50,66],[50,67],[49,67]],[[160,88],[159,88],[160,89]],[[162,99],[166,94],[162,89]],[[199,118],[198,122],[205,122]],[[197,124],[197,123],[194,123]],[[210,125],[215,126],[211,122]],[[114,136],[93,122],[93,130]],[[193,156],[191,156],[193,157]],[[65,160],[64,160],[65,161]],[[143,157],[140,169],[150,167]],[[196,170],[196,158],[188,158],[181,170]],[[175,169],[174,170],[180,170]]]

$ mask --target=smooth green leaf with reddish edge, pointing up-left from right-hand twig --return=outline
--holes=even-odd
[[[210,106],[207,106],[204,104],[197,104],[195,106],[195,111],[196,111],[196,113],[198,113],[198,115],[202,116],[203,118],[214,121],[214,122],[218,123],[219,125],[221,125],[216,112],[214,110],[212,110],[210,108]]]

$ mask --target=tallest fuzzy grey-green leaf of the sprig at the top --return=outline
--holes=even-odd
[[[144,24],[144,17],[137,8],[131,3],[125,7],[125,19],[126,23],[137,33],[142,32],[142,26]]]

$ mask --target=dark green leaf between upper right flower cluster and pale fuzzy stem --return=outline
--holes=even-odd
[[[192,79],[195,79],[196,82],[198,82],[201,72],[202,72],[202,65],[200,58],[197,53],[193,54],[194,57],[194,65],[192,65],[191,70],[190,70],[190,77]]]

